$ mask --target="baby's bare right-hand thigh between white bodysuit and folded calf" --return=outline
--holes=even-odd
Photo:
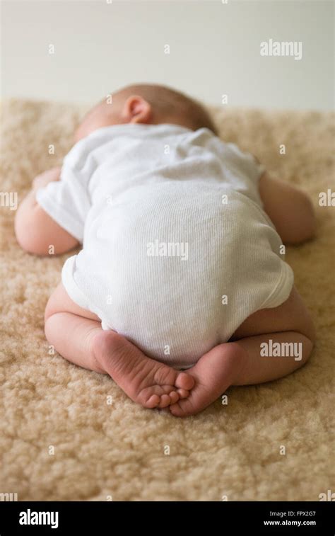
[[[315,328],[305,304],[298,291],[293,287],[286,302],[272,309],[260,309],[250,315],[233,333],[230,340],[274,333],[280,331],[298,331],[311,341],[315,340]]]

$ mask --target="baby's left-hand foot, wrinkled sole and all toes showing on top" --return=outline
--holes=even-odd
[[[101,331],[93,339],[98,365],[124,392],[146,408],[165,408],[189,396],[194,379],[154,359],[114,331]]]

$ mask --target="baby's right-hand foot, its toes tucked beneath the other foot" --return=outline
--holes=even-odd
[[[234,382],[244,362],[245,350],[236,343],[215,346],[187,372],[194,378],[189,397],[170,405],[172,415],[187,417],[199,413],[221,396]]]

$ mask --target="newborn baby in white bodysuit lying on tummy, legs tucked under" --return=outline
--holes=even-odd
[[[64,358],[175,416],[306,362],[315,331],[282,254],[314,234],[305,193],[164,86],[117,91],[74,141],[16,215],[29,253],[83,244],[45,311]]]

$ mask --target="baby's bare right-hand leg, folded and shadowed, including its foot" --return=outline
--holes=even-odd
[[[286,302],[252,314],[223,343],[187,370],[194,388],[185,400],[170,406],[173,415],[196,414],[230,385],[258,384],[286,376],[304,365],[315,341],[310,315],[293,289]]]

